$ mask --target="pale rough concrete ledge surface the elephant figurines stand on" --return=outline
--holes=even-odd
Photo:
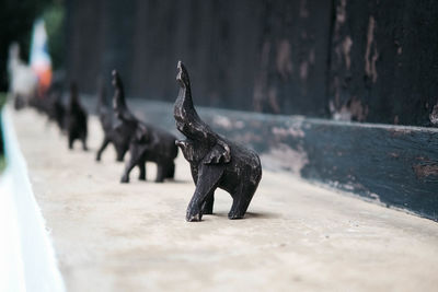
[[[176,180],[118,183],[105,152],[68,151],[53,125],[14,114],[36,200],[69,291],[436,291],[438,224],[264,172],[244,220],[217,191],[215,215],[185,222],[194,191],[181,153]],[[114,152],[114,151],[113,151]],[[148,178],[154,166],[148,165]]]

